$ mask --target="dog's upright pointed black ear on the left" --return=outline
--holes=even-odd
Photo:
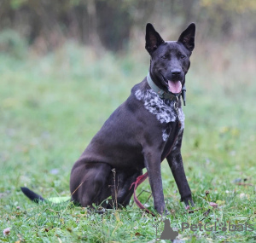
[[[151,55],[155,49],[157,49],[161,43],[165,41],[160,37],[160,34],[154,30],[154,26],[150,23],[146,26],[146,45],[145,48],[148,50],[148,53]]]

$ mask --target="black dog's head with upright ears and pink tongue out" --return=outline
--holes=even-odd
[[[154,26],[147,24],[146,45],[151,56],[150,75],[160,89],[180,94],[189,70],[189,57],[195,47],[195,24],[191,23],[177,41],[164,41]]]

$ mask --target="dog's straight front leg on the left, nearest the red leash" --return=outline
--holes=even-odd
[[[154,209],[162,214],[165,210],[165,200],[160,170],[160,154],[151,151],[144,153],[145,165],[148,170],[148,179],[154,198]]]

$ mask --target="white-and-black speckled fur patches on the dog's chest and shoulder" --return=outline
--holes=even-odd
[[[137,100],[143,101],[144,107],[149,113],[156,116],[156,119],[160,124],[168,124],[170,122],[175,122],[177,120],[177,112],[174,109],[174,101],[163,100],[157,95],[153,90],[137,90],[135,92]],[[185,116],[182,108],[178,109],[178,119],[181,123],[180,130],[183,130]],[[162,139],[167,141],[169,137],[169,130],[162,130]]]

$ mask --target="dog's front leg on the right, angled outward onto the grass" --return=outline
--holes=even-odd
[[[185,205],[193,206],[194,202],[192,200],[191,190],[189,188],[189,183],[183,168],[183,158],[180,152],[182,136],[183,135],[181,134],[179,137],[177,137],[177,142],[174,148],[172,148],[172,152],[167,156],[166,159],[172,170],[172,175],[174,176],[177,184],[179,194],[181,195],[181,201],[183,201]]]

